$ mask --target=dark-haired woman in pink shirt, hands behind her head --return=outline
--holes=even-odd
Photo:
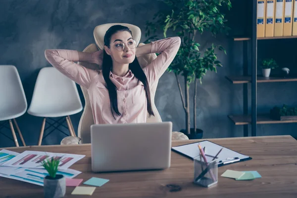
[[[149,87],[166,71],[181,40],[172,37],[136,48],[128,27],[114,25],[104,36],[104,49],[94,53],[47,49],[49,63],[88,90],[95,124],[144,123],[152,112]],[[160,53],[145,68],[137,56]],[[74,62],[99,65],[88,69]]]

